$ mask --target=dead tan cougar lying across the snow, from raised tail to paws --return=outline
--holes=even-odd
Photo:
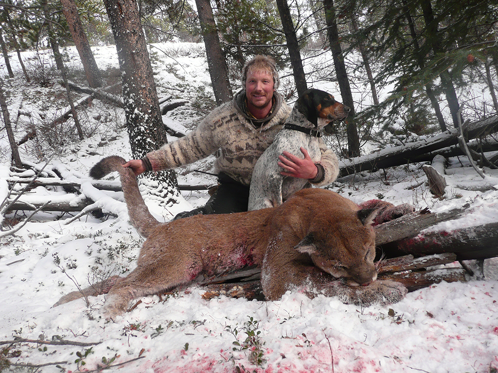
[[[215,275],[252,264],[261,267],[268,300],[295,287],[310,296],[337,295],[362,305],[396,302],[406,293],[401,284],[375,281],[372,209],[360,210],[337,193],[313,188],[296,192],[274,208],[160,223],[149,213],[124,162],[108,157],[91,171],[95,178],[120,173],[130,220],[147,238],[137,268],[111,287],[104,307],[107,316],[124,312],[134,298],[188,283],[201,273]],[[57,304],[79,296],[68,294]]]

